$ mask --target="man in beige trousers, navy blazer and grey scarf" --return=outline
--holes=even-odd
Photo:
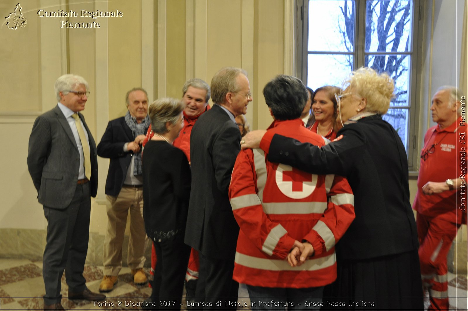
[[[107,232],[102,262],[104,278],[100,292],[109,292],[117,283],[122,268],[122,244],[130,211],[130,239],[127,265],[132,269],[135,284],[145,284],[145,246],[147,242],[143,221],[143,185],[141,176],[141,143],[150,125],[148,95],[142,88],[133,88],[125,96],[127,113],[109,121],[97,155],[110,158],[106,180]]]

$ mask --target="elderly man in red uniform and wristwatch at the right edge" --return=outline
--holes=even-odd
[[[443,86],[432,97],[432,120],[424,136],[417,194],[419,260],[423,286],[429,290],[429,309],[448,309],[447,253],[461,223],[466,223],[465,97]],[[463,198],[463,193],[465,200]]]

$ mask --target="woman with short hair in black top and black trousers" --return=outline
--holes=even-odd
[[[148,109],[153,138],[143,160],[143,218],[157,256],[152,302],[154,309],[180,309],[190,246],[183,243],[190,197],[190,166],[182,150],[172,146],[183,127],[183,104],[173,98]]]

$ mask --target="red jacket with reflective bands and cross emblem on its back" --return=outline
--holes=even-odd
[[[275,121],[268,131],[325,144],[301,119]],[[336,279],[335,244],[354,219],[354,196],[345,178],[271,163],[261,149],[245,149],[234,164],[229,199],[240,227],[235,281],[308,288]],[[286,260],[295,240],[314,247],[314,255],[299,267]]]

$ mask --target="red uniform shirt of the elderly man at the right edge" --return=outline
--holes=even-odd
[[[417,193],[413,209],[419,214],[446,221],[462,223],[462,209],[466,210],[467,185],[460,190],[426,195],[421,188],[428,182],[445,182],[447,179],[465,178],[467,170],[467,125],[458,118],[452,125],[440,129],[432,126],[424,136],[421,164],[417,178]],[[433,147],[432,147],[433,146]],[[432,151],[427,153],[426,151]],[[425,158],[425,160],[424,160]]]

